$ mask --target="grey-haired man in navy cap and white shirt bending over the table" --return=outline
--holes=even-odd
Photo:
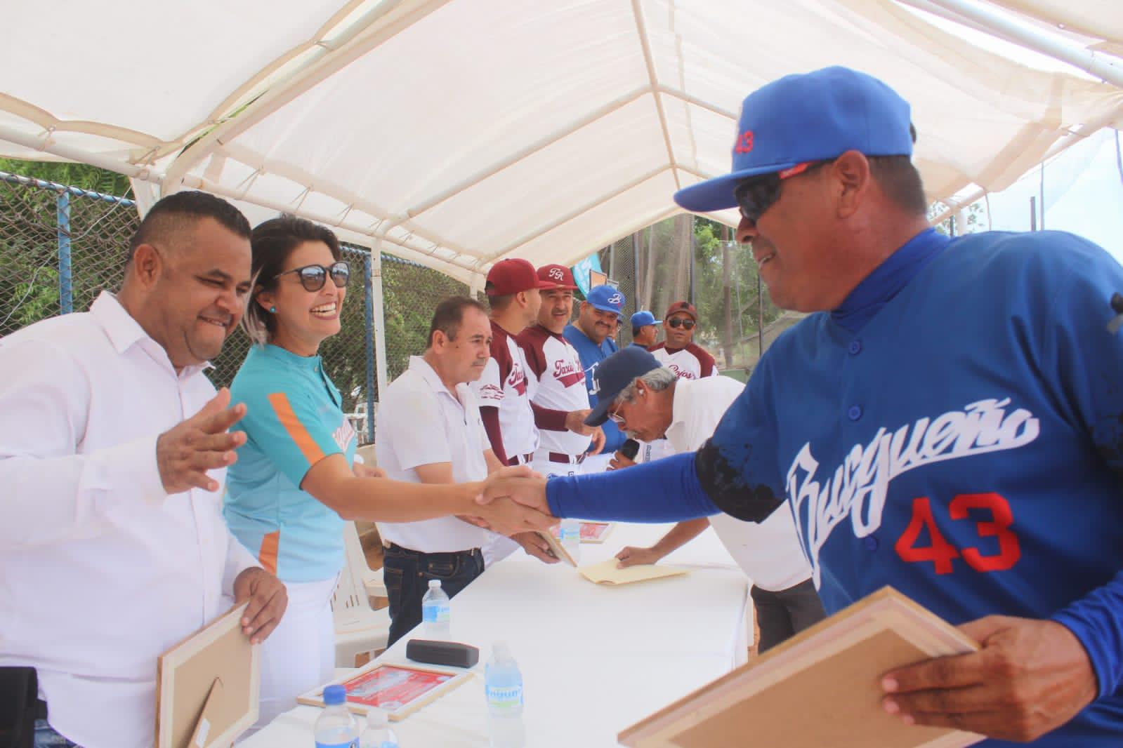
[[[678,377],[636,347],[605,359],[593,376],[601,400],[586,423],[596,425],[611,418],[632,438],[666,437],[675,454],[702,446],[745,389],[729,377]],[[792,512],[784,507],[760,524],[724,514],[683,521],[651,547],[629,546],[617,558],[621,566],[654,564],[707,526],[713,526],[752,580],[761,653],[823,619],[823,604],[811,582],[811,566],[795,534]]]

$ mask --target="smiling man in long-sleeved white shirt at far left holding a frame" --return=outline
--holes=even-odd
[[[0,671],[37,671],[37,748],[150,748],[156,658],[231,599],[254,641],[284,612],[222,521],[245,406],[203,375],[249,255],[237,209],[171,195],[116,296],[0,340]]]

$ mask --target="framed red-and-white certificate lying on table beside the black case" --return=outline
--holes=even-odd
[[[374,663],[327,685],[339,684],[347,690],[347,708],[350,711],[365,714],[377,708],[384,710],[391,720],[398,721],[471,678],[469,671]],[[322,707],[323,689],[320,686],[310,691],[296,701]]]

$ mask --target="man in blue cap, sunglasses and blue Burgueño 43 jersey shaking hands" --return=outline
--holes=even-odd
[[[494,492],[648,521],[786,500],[828,612],[891,584],[980,644],[886,673],[886,711],[988,748],[1116,746],[1123,268],[1067,233],[937,233],[912,132],[847,68],[751,93],[732,173],[675,198],[738,206],[773,299],[815,314],[696,454]]]

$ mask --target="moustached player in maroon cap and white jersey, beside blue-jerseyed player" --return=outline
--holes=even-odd
[[[541,292],[537,324],[517,339],[535,386],[530,405],[538,426],[538,449],[531,465],[544,475],[573,475],[579,472],[590,445],[592,454],[600,452],[604,432],[585,425],[590,413],[585,368],[577,349],[562,334],[573,315],[573,292],[577,288],[573,273],[564,265],[544,265],[538,277],[551,287]]]

